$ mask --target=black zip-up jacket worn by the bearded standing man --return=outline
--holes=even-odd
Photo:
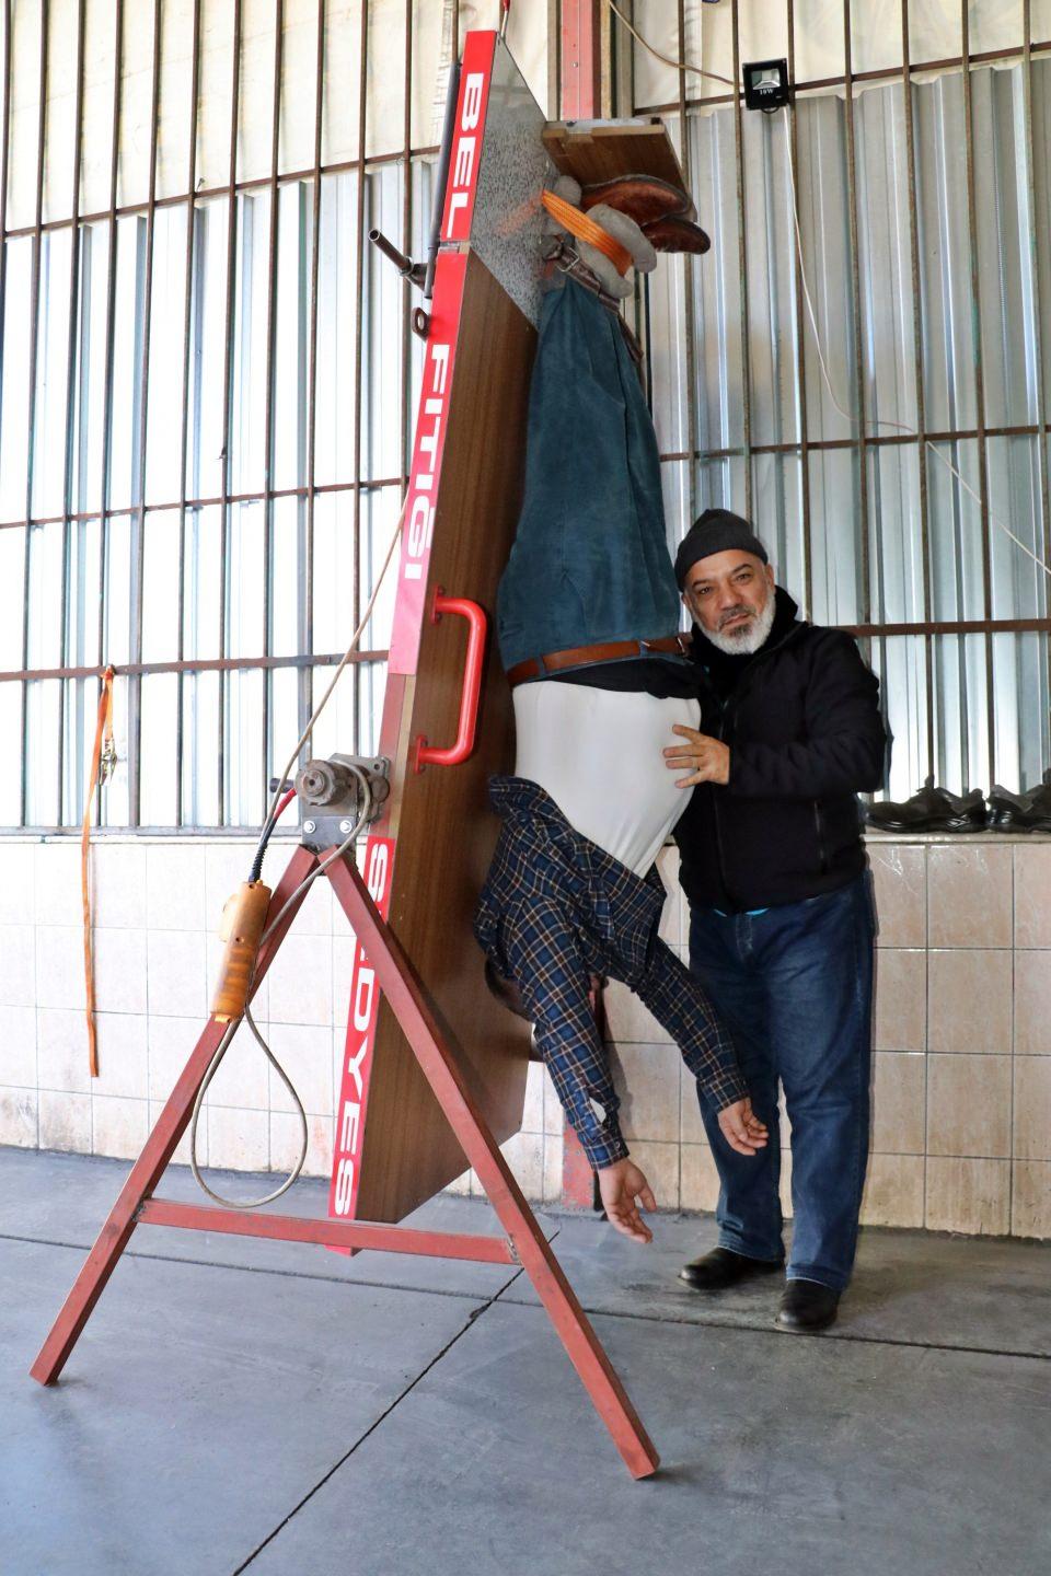
[[[851,635],[797,618],[780,586],[766,645],[728,657],[693,626],[701,733],[730,745],[730,782],[701,783],[676,826],[690,903],[797,903],[865,868],[857,794],[879,786],[879,681]]]

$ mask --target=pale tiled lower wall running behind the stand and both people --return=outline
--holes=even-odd
[[[203,1026],[214,931],[251,851],[197,838],[95,846],[101,1076],[91,1080],[79,848],[0,842],[0,1143],[137,1154]],[[285,857],[274,846],[277,870]],[[881,838],[870,857],[879,950],[863,1218],[1051,1237],[1051,842]],[[662,935],[685,957],[674,851],[660,865]],[[329,1169],[350,965],[347,922],[318,883],[255,999],[260,1031],[304,1098],[315,1176]],[[712,1209],[715,1169],[676,1046],[624,987],[610,987],[607,1010],[633,1155],[663,1207]],[[246,1028],[199,1138],[216,1166],[295,1160],[298,1119]],[[506,1154],[529,1198],[559,1196],[563,1113],[537,1065]],[[476,1182],[465,1174],[455,1190]],[[782,1193],[791,1212],[788,1147]]]

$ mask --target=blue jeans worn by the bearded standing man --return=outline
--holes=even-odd
[[[693,909],[690,969],[733,1034],[756,1114],[759,1154],[736,1154],[700,1094],[722,1182],[719,1242],[785,1256],[777,1083],[793,1127],[788,1280],[841,1291],[851,1278],[868,1162],[875,911],[868,873],[761,914]]]

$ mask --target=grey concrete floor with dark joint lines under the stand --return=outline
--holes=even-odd
[[[840,1324],[544,1214],[662,1453],[632,1483],[514,1269],[140,1228],[61,1382],[27,1368],[128,1166],[0,1149],[3,1576],[1029,1576],[1051,1570],[1051,1245],[867,1231]],[[232,1177],[230,1190],[254,1182]],[[195,1196],[173,1168],[165,1196]],[[325,1188],[299,1184],[298,1214]],[[416,1223],[492,1229],[436,1199]]]

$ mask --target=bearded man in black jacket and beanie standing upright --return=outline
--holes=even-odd
[[[690,968],[730,1026],[771,1143],[741,1162],[701,1097],[719,1247],[682,1278],[719,1291],[785,1256],[777,1084],[793,1130],[793,1247],[778,1324],[834,1322],[868,1158],[875,916],[857,793],[879,785],[878,681],[854,640],[797,618],[752,526],[707,509],[676,577],[693,615],[700,730],[665,750],[693,796],[676,827]]]

